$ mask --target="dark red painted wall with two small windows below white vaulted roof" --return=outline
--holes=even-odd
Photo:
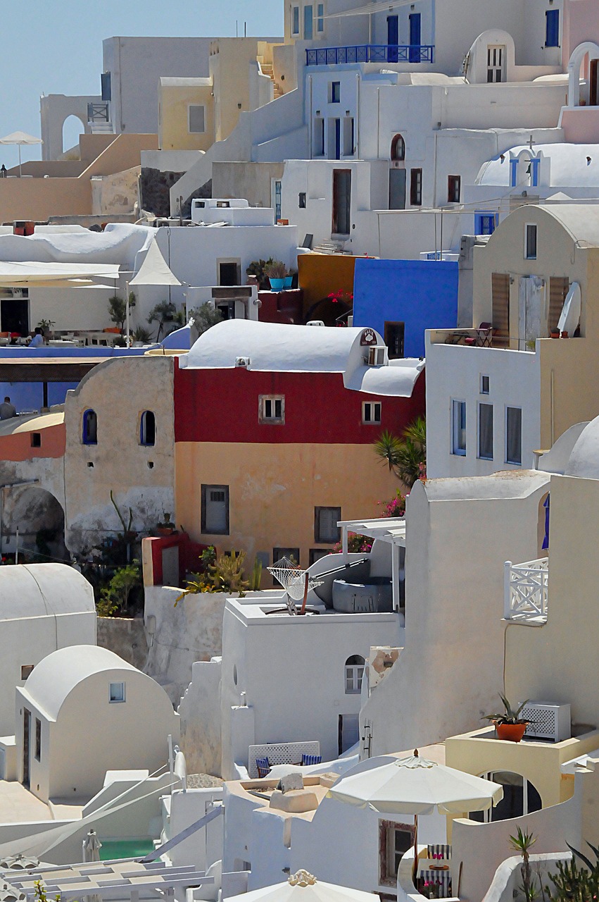
[[[285,395],[285,424],[260,424],[259,395]],[[381,401],[380,426],[362,425],[362,401]],[[175,367],[175,441],[368,445],[425,412],[424,373],[411,398],[349,391],[342,373],[257,373]]]

